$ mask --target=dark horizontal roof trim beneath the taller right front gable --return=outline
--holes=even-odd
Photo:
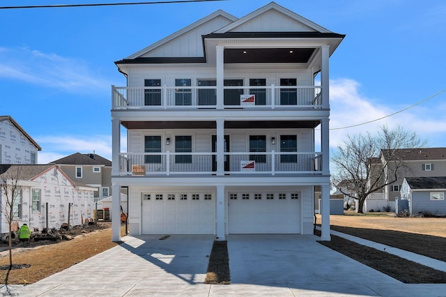
[[[210,33],[203,38],[344,38],[344,34],[322,32],[226,32]]]

